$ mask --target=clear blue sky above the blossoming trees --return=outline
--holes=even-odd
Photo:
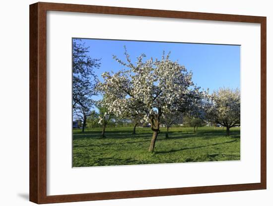
[[[113,55],[125,61],[124,46],[132,62],[144,53],[161,58],[171,52],[170,59],[178,60],[187,70],[193,72],[193,81],[210,92],[219,87],[240,88],[240,46],[193,43],[143,42],[123,40],[82,39],[81,43],[89,47],[91,58],[101,59],[100,69],[96,69],[99,79],[104,71],[118,71],[122,66],[113,60]]]

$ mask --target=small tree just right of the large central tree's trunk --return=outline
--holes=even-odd
[[[169,137],[169,128],[175,124],[182,124],[183,123],[183,116],[181,112],[171,112],[163,115],[161,123],[166,126],[167,132],[165,137]]]

